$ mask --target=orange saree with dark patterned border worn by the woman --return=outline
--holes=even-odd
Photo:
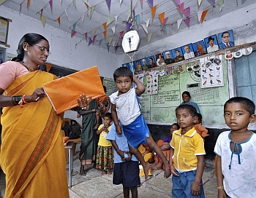
[[[31,72],[16,79],[4,95],[31,95],[53,78]],[[61,119],[46,97],[23,108],[4,108],[0,163],[6,174],[5,197],[69,197]]]

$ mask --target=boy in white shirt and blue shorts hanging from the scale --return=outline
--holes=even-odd
[[[137,149],[141,143],[146,143],[151,150],[159,155],[165,165],[164,177],[168,178],[170,176],[169,163],[159,146],[157,146],[157,143],[151,137],[148,126],[140,112],[138,96],[145,92],[144,84],[126,67],[117,68],[113,77],[118,89],[117,92],[110,95],[111,112],[113,122],[116,125],[116,132],[119,135],[122,133],[122,128],[118,123],[119,119],[123,126],[124,135],[127,137],[129,143],[129,151],[135,154],[135,157],[143,165],[146,180],[148,179],[150,165],[144,161],[140,151]],[[135,82],[136,88],[131,88],[132,82]]]

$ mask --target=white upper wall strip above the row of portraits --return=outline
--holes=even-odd
[[[218,7],[215,9],[218,9]],[[166,39],[162,39],[148,44],[146,47],[139,48],[138,52],[134,55],[133,60],[156,55],[159,52],[172,50],[174,48],[184,46],[185,44],[195,43],[196,41],[203,40],[208,36],[222,33],[223,31],[229,31],[230,29],[233,29],[233,36],[236,45],[256,41],[255,9],[256,3],[250,4],[249,7],[237,9],[236,11],[230,12],[222,17],[204,21],[203,24],[199,23],[198,25],[191,26],[190,28],[180,28],[180,31],[173,36],[168,36]],[[208,12],[211,12],[211,9],[209,9]],[[173,28],[177,28],[177,25],[173,25]],[[148,29],[150,33],[150,25]],[[152,36],[154,36],[154,33]],[[128,63],[129,61],[130,59],[127,55],[118,56],[118,66]]]

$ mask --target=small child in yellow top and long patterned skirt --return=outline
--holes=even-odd
[[[97,149],[96,168],[102,170],[102,175],[112,174],[113,169],[113,149],[112,144],[107,140],[110,130],[110,123],[113,121],[110,113],[105,114],[104,123],[100,124],[97,135],[99,135],[99,143]]]

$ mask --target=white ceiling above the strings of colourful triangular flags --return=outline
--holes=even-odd
[[[45,23],[67,31],[68,33],[72,33],[72,29],[75,28],[76,33],[74,36],[80,38],[77,44],[86,44],[87,46],[90,43],[90,39],[92,40],[93,37],[97,35],[92,44],[96,47],[104,48],[105,50],[108,50],[109,45],[109,52],[116,53],[117,55],[124,54],[123,49],[118,46],[121,45],[120,32],[126,32],[126,22],[131,9],[131,1],[132,8],[135,10],[135,16],[139,16],[139,24],[145,26],[146,22],[149,20],[148,33],[146,33],[142,25],[137,25],[137,23],[134,22],[134,29],[137,30],[140,35],[140,47],[148,44],[150,35],[151,39],[149,42],[153,43],[176,34],[179,31],[186,31],[189,28],[189,26],[182,21],[178,29],[177,21],[180,21],[182,18],[188,18],[186,14],[181,14],[177,9],[177,2],[179,0],[32,0],[29,3],[29,8],[27,8],[28,1],[29,0],[6,0],[1,5],[14,9],[23,15],[29,15],[37,20],[40,20],[42,10],[42,18],[45,17]],[[216,3],[214,3],[215,1]],[[255,0],[246,0],[244,4],[241,3],[242,0],[223,1],[224,7],[222,7],[220,12],[220,6],[217,4],[218,0],[203,0],[200,6],[197,0],[181,0],[181,3],[184,3],[184,9],[190,8],[190,26],[199,23],[197,20],[198,11],[208,9],[204,19],[204,21],[206,21],[255,3]],[[50,9],[50,2],[52,2],[52,11]],[[151,12],[152,3],[153,7],[157,5],[153,20]],[[108,4],[110,5],[110,9],[108,8]],[[165,18],[168,17],[165,28],[163,29],[161,29],[161,22],[159,20],[159,14],[162,12],[165,13]],[[58,18],[60,19],[60,24],[57,20]],[[111,19],[113,22],[107,26],[105,39],[103,33],[105,28],[102,24]],[[115,30],[115,33],[113,33],[113,30]],[[85,36],[86,33],[87,40]],[[112,36],[113,39],[111,41]]]

